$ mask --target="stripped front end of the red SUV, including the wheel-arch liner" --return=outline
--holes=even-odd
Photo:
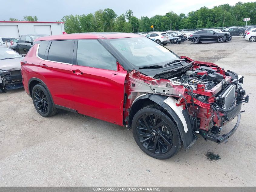
[[[194,144],[197,134],[216,143],[227,142],[238,128],[241,105],[249,101],[242,88],[243,76],[225,71],[213,63],[181,58],[186,65],[154,76],[139,70],[128,73],[125,80],[125,124],[131,126],[138,105],[153,102],[175,121],[185,148]],[[236,117],[238,121],[234,128],[220,135],[222,127]]]

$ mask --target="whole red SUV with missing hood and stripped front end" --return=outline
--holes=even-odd
[[[180,57],[129,33],[40,37],[25,56],[22,77],[35,109],[65,109],[131,127],[138,146],[167,159],[205,140],[227,142],[249,97],[243,77],[209,62]],[[234,128],[222,126],[238,117]]]

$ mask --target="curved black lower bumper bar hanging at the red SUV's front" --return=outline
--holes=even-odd
[[[234,134],[234,132],[237,130],[239,123],[241,120],[241,114],[238,113],[237,115],[237,122],[235,124],[235,126],[233,127],[233,129],[228,132],[227,134],[223,134],[223,135],[218,135],[218,134],[214,134],[214,133],[209,133],[207,138],[208,140],[214,141],[216,143],[222,143],[223,141],[225,141],[225,143],[228,142],[228,138]]]

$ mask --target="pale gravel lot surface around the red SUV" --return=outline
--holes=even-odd
[[[23,89],[8,91],[0,93],[0,186],[256,186],[256,43],[234,38],[167,47],[244,76],[250,103],[228,143],[200,137],[190,149],[157,160],[139,149],[125,127],[67,111],[44,118]],[[221,159],[210,161],[207,152]]]

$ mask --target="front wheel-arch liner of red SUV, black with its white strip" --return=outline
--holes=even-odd
[[[165,96],[165,95],[158,95],[158,94],[141,95],[140,97],[134,100],[133,104],[139,101],[140,99],[147,99],[147,98],[157,103],[159,106],[164,108],[171,115],[172,119],[175,121],[178,127],[184,147],[185,148],[191,147],[194,144],[193,142],[194,136],[192,132],[188,111],[180,110],[178,109],[178,106],[173,105],[172,97]],[[132,109],[132,106],[131,106],[131,109]]]

